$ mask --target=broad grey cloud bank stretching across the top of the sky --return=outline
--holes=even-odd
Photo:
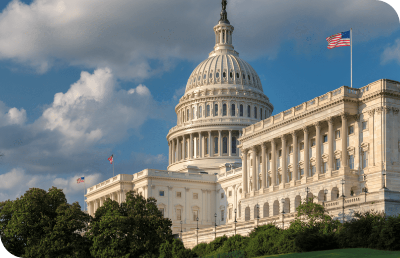
[[[168,71],[176,59],[205,59],[214,46],[212,28],[220,10],[219,2],[212,0],[35,0],[30,5],[14,0],[0,14],[0,59],[38,73],[64,62],[109,67],[118,79],[142,80]],[[227,12],[235,26],[235,49],[247,60],[274,59],[287,40],[316,48],[350,25],[355,43],[399,29],[393,8],[376,0],[303,0],[290,5],[232,0]],[[318,44],[309,44],[311,36]]]

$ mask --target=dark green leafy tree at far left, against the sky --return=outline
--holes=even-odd
[[[0,203],[0,236],[18,257],[90,257],[91,243],[81,235],[89,221],[56,187],[30,188],[20,199]]]

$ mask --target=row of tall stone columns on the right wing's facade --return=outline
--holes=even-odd
[[[348,167],[348,150],[347,150],[347,136],[348,136],[348,128],[347,128],[347,119],[348,119],[348,113],[347,112],[342,112],[339,114],[341,119],[342,119],[342,126],[341,126],[341,157],[340,157],[340,163],[341,167]],[[335,156],[334,156],[334,143],[335,143],[335,136],[334,136],[334,117],[327,117],[326,122],[328,124],[328,133],[327,133],[327,138],[328,138],[328,162],[327,162],[327,171],[331,172],[334,171],[335,168]],[[311,126],[303,126],[301,127],[300,130],[293,130],[289,134],[282,134],[279,137],[275,137],[272,139],[269,139],[267,141],[263,141],[261,143],[257,143],[256,145],[251,146],[250,148],[247,149],[241,149],[242,153],[242,170],[243,170],[243,191],[244,193],[248,193],[249,191],[255,191],[260,188],[266,188],[268,187],[266,184],[266,174],[268,173],[268,168],[266,165],[267,161],[267,145],[270,146],[271,150],[271,186],[274,187],[277,185],[277,172],[278,172],[278,167],[282,169],[282,181],[281,183],[287,183],[287,177],[288,177],[288,165],[287,165],[287,157],[288,157],[288,152],[287,152],[287,140],[288,137],[292,137],[292,147],[293,147],[293,164],[292,164],[292,179],[291,180],[298,180],[298,167],[299,167],[299,159],[298,159],[298,154],[300,150],[298,150],[298,135],[299,133],[303,133],[304,135],[304,155],[303,155],[303,169],[304,169],[304,176],[305,177],[310,177],[310,157],[309,157],[309,152],[310,148],[313,146],[310,146],[309,144],[309,127],[314,127],[315,128],[315,174],[321,174],[321,122],[316,121],[314,122]],[[277,150],[277,143],[279,140],[282,143],[282,149],[280,151],[282,155],[282,163],[280,166],[277,167],[277,155],[279,158],[279,150]],[[301,143],[302,144],[302,143]],[[261,171],[257,171],[257,157],[258,157],[258,152],[259,149],[261,149],[261,166],[260,169]],[[251,189],[248,189],[249,182],[248,182],[248,166],[247,166],[247,159],[249,158],[248,155],[250,155],[250,150],[251,150],[251,155],[252,155],[252,187]],[[261,184],[257,186],[258,182],[258,174],[261,172]],[[256,180],[254,180],[256,179]]]

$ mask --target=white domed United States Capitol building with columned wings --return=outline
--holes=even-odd
[[[93,185],[88,213],[134,190],[157,200],[186,247],[267,223],[287,228],[306,196],[341,221],[363,210],[400,213],[400,83],[342,86],[272,115],[260,78],[234,50],[233,29],[223,9],[214,50],[175,107],[166,170]]]

